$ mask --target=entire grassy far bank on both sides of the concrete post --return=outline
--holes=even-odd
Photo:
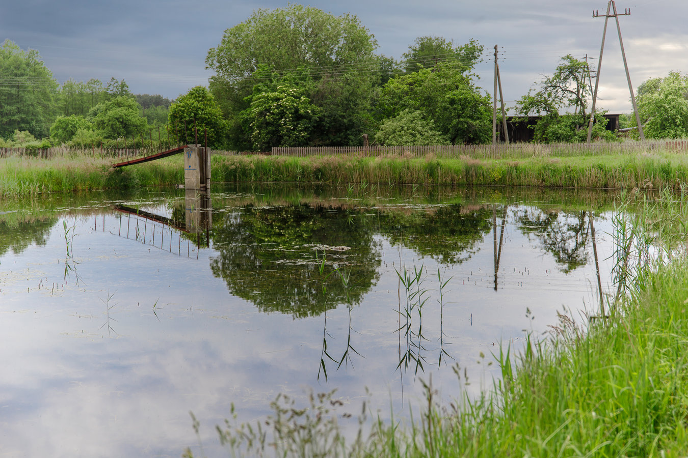
[[[183,183],[182,157],[114,170],[107,159],[0,159],[0,196],[127,189]],[[270,157],[216,154],[214,182],[292,182],[416,185],[504,185],[577,188],[678,188],[688,181],[688,159],[671,150],[538,156],[518,159],[389,157]]]

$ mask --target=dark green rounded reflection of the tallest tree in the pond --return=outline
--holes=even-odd
[[[319,315],[338,304],[359,304],[379,277],[374,227],[361,211],[324,205],[246,205],[215,216],[211,268],[233,295],[264,312],[294,318]],[[330,268],[322,275],[321,253]]]

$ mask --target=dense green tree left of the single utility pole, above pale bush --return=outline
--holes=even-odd
[[[403,110],[420,111],[451,144],[480,144],[491,138],[492,111],[470,76],[451,63],[393,78],[383,87],[376,117],[383,121]]]

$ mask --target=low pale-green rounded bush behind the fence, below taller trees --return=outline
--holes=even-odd
[[[420,111],[406,109],[396,117],[385,119],[375,134],[380,145],[447,145],[449,141],[435,129],[431,119]]]

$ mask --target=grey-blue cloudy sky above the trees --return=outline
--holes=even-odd
[[[447,1],[375,0],[308,3],[332,14],[356,14],[375,35],[377,52],[399,59],[418,36],[435,35],[461,44],[475,38],[486,47],[477,67],[480,85],[492,91],[493,47],[504,51],[499,63],[504,99],[513,101],[533,82],[550,74],[561,56],[593,57],[596,67],[607,1],[544,0]],[[0,39],[37,49],[58,82],[111,77],[125,79],[133,93],[175,98],[207,84],[208,49],[224,31],[257,8],[283,8],[277,0],[87,0],[3,1]],[[688,3],[679,0],[620,0],[621,32],[634,89],[671,70],[688,71]],[[616,23],[610,20],[600,79],[598,106],[614,113],[631,110]]]

